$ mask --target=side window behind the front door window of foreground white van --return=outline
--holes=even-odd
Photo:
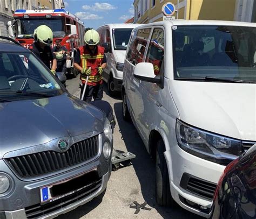
[[[133,65],[137,65],[137,63],[143,61],[150,31],[151,29],[147,28],[133,32],[134,34],[132,36],[130,48],[126,57]]]

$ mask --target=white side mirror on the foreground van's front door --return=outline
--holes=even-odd
[[[138,63],[133,72],[134,77],[139,80],[147,81],[151,83],[160,83],[161,79],[159,75],[154,74],[153,64],[150,62]]]

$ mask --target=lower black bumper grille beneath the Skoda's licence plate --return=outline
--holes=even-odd
[[[47,203],[47,204],[36,204],[25,208],[26,217],[28,218],[38,218],[46,214],[50,214],[54,211],[64,208],[69,204],[75,203],[79,200],[85,199],[87,196],[95,193],[102,185],[102,179],[95,181],[89,187],[79,190],[69,196],[63,197],[62,199]]]

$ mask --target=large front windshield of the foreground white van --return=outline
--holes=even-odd
[[[173,26],[176,80],[256,82],[256,28]]]

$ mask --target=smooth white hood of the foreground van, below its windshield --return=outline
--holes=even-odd
[[[170,81],[181,121],[241,140],[256,140],[256,84]]]

